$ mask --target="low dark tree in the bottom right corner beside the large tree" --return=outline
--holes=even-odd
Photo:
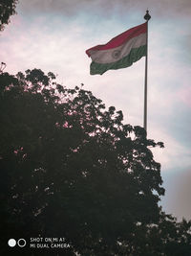
[[[159,221],[138,224],[131,255],[187,256],[191,250],[191,221],[177,221],[160,209]],[[129,254],[130,255],[130,254]]]

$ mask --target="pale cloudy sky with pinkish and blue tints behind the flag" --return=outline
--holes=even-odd
[[[107,106],[122,110],[124,123],[143,126],[145,59],[131,67],[90,75],[85,51],[145,22],[148,34],[148,138],[161,164],[164,210],[191,219],[191,1],[20,0],[0,34],[0,61],[11,74],[40,68],[67,87],[84,83]]]

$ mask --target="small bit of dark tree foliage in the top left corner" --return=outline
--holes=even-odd
[[[6,24],[10,23],[11,15],[15,14],[18,0],[0,0],[0,31],[4,30]]]

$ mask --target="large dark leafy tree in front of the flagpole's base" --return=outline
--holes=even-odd
[[[11,234],[28,244],[64,237],[65,255],[134,253],[138,232],[159,224],[164,189],[150,148],[163,144],[123,125],[122,112],[92,92],[38,69],[0,76],[0,108],[1,247]],[[33,255],[29,245],[22,251]]]

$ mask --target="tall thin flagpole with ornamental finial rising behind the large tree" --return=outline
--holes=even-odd
[[[147,130],[147,69],[148,69],[148,21],[151,18],[149,11],[146,11],[144,19],[146,19],[146,57],[145,57],[145,77],[144,77],[144,118],[143,127]]]

